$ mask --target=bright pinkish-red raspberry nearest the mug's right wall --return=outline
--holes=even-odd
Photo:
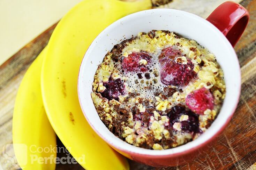
[[[206,109],[213,110],[214,98],[211,92],[203,87],[188,94],[186,104],[188,108],[197,114],[204,114]]]

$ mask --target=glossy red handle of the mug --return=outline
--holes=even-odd
[[[249,12],[238,3],[227,1],[218,6],[206,20],[216,26],[234,47],[248,24]]]

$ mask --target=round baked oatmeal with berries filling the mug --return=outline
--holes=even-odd
[[[156,30],[116,44],[92,86],[106,127],[148,149],[198,138],[218,115],[226,88],[214,54],[194,40]]]

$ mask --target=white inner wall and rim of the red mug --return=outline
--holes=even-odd
[[[182,37],[196,40],[216,55],[224,71],[226,97],[223,106],[210,128],[199,138],[185,145],[165,150],[136,147],[114,136],[100,120],[91,99],[93,76],[107,51],[115,44],[136,36],[139,32],[168,30]],[[240,66],[235,51],[225,36],[205,19],[174,9],[150,9],[119,19],[108,26],[92,42],[81,63],[78,76],[78,97],[83,113],[92,128],[108,144],[122,150],[143,155],[170,155],[198,147],[216,135],[231,119],[237,106],[241,88]]]

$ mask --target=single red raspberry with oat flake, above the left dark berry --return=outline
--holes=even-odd
[[[140,60],[145,59],[148,63],[146,65],[140,65]],[[123,58],[122,67],[125,71],[141,71],[145,72],[148,70],[146,67],[151,62],[150,56],[144,52],[133,52],[128,57]]]

